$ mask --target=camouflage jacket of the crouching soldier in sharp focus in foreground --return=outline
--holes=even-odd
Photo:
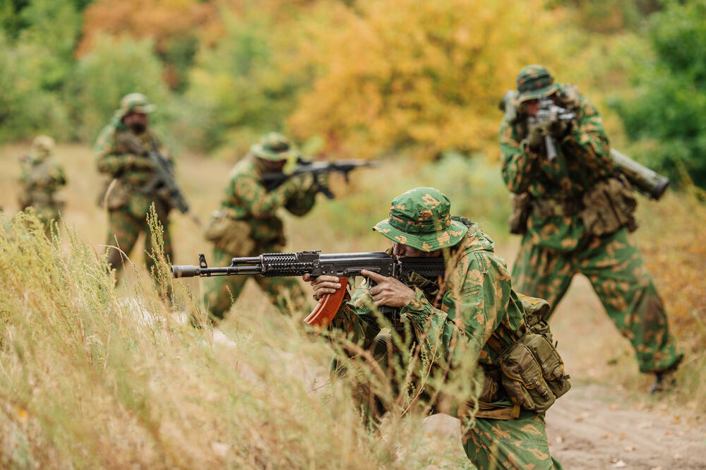
[[[438,282],[441,287],[429,291],[414,285],[414,299],[401,309],[400,318],[409,322],[415,341],[436,363],[457,354],[454,344],[462,338],[464,347],[478,354],[479,363],[496,366],[497,351],[525,334],[524,308],[505,261],[493,251],[493,241],[478,224],[467,225],[467,234],[451,250],[445,279]],[[368,347],[381,330],[372,309],[368,289],[357,289],[338,311],[335,325]]]

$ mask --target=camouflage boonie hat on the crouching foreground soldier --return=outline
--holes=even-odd
[[[438,189],[414,188],[393,199],[390,216],[373,230],[426,252],[454,246],[468,227],[451,219],[450,208],[450,201]]]

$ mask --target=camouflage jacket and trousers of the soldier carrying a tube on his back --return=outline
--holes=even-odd
[[[560,101],[567,100],[565,87],[558,85],[556,91]],[[526,145],[525,115],[501,123],[503,179],[513,193],[529,193],[534,206],[513,267],[515,288],[546,299],[554,309],[573,276],[585,274],[611,320],[632,342],[640,370],[664,370],[682,356],[640,252],[624,227],[598,238],[588,233],[580,217],[582,196],[615,173],[602,118],[582,95],[562,104],[573,109],[576,121],[555,142],[553,162],[543,148],[532,152]]]

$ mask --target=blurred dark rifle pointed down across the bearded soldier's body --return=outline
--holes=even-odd
[[[150,150],[147,152],[133,138],[125,138],[124,143],[136,154],[147,157],[154,167],[152,177],[140,191],[145,194],[159,192],[166,195],[170,206],[177,207],[182,214],[189,214],[193,222],[200,226],[201,221],[189,210],[184,194],[177,186],[177,181],[174,181],[174,164],[160,154],[155,139],[150,138]]]

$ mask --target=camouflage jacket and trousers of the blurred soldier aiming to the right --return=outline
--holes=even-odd
[[[261,182],[265,167],[261,159],[247,155],[233,167],[225,198],[221,202],[222,210],[229,217],[247,224],[246,236],[254,243],[248,253],[225,253],[214,249],[215,263],[229,264],[235,256],[253,256],[260,253],[278,253],[285,248],[285,233],[282,219],[277,216],[277,209],[284,207],[294,215],[305,215],[311,210],[316,200],[316,191],[306,188],[299,178],[287,179],[269,193]],[[297,279],[291,277],[253,277],[265,291],[270,301],[285,310],[287,300],[292,308],[304,305],[304,291]],[[222,276],[211,279],[208,283],[204,302],[212,315],[223,318],[238,298],[247,277]]]

